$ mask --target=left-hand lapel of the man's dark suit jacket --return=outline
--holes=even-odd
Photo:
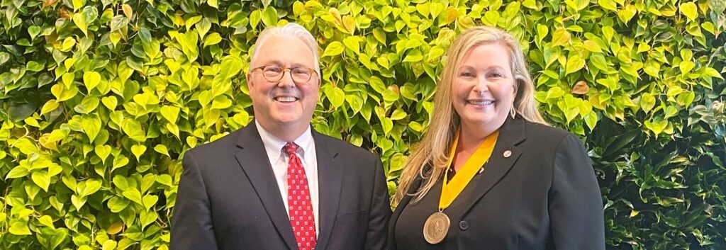
[[[260,134],[253,123],[242,128],[240,137],[237,139],[237,147],[240,150],[234,154],[234,157],[252,183],[270,220],[277,228],[277,233],[280,233],[282,239],[287,243],[287,247],[298,249],[290,219],[287,218],[287,212],[285,212],[285,204],[282,202],[280,188],[275,181],[274,172],[272,172],[272,166],[267,158]]]

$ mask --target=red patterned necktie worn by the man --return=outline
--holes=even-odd
[[[290,224],[298,241],[298,250],[313,250],[317,242],[315,219],[308,178],[300,158],[295,154],[298,145],[288,142],[282,151],[290,156],[287,162],[287,207],[290,209]]]

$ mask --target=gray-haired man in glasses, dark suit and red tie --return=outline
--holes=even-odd
[[[380,159],[311,130],[317,43],[264,30],[247,75],[255,121],[184,154],[171,249],[386,249]]]

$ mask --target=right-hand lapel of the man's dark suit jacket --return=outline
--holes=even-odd
[[[333,233],[333,223],[338,214],[338,203],[340,202],[340,188],[343,182],[343,167],[340,164],[346,162],[335,162],[338,156],[338,149],[333,146],[326,136],[322,136],[313,130],[315,141],[315,154],[317,154],[318,165],[318,191],[319,191],[319,228],[320,234],[317,238],[315,249],[325,249],[330,234]],[[349,164],[349,162],[348,162]]]

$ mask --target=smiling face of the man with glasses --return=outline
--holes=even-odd
[[[314,54],[298,38],[269,38],[257,51],[252,67],[278,66],[314,69]],[[305,130],[312,119],[318,101],[320,79],[312,72],[310,80],[293,81],[290,71],[282,72],[282,79],[270,81],[264,70],[250,70],[247,84],[250,89],[255,119],[267,130]]]

